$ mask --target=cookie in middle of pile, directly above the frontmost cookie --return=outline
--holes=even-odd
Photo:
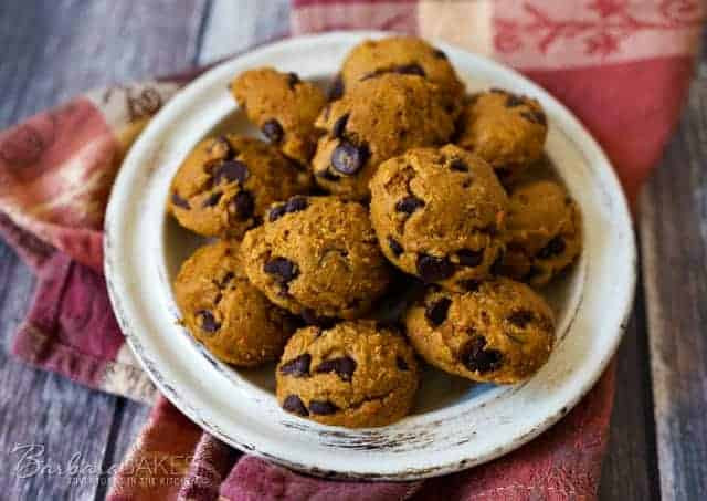
[[[274,205],[242,254],[255,286],[313,323],[360,316],[390,279],[366,208],[335,197]]]

